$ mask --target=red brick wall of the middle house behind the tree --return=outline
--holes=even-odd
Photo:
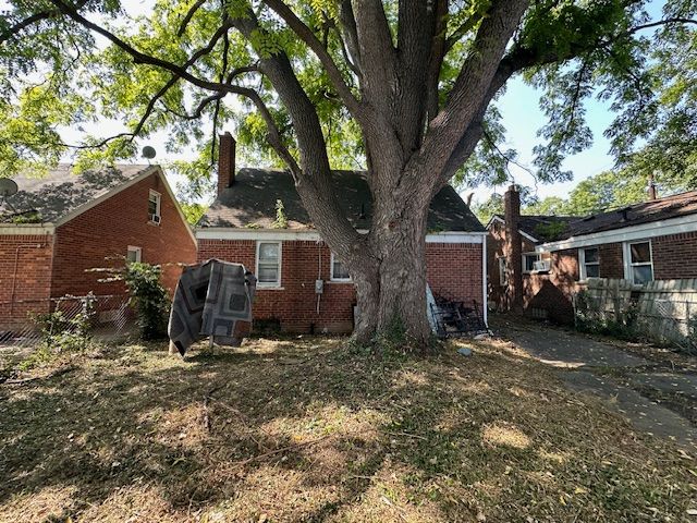
[[[330,251],[314,241],[290,241],[282,245],[282,289],[258,288],[254,303],[257,320],[279,319],[281,328],[307,332],[351,332],[354,285],[330,280]],[[325,292],[317,314],[315,280],[325,280]],[[218,258],[243,264],[256,270],[255,241],[199,240],[198,260]],[[433,291],[445,296],[481,303],[481,245],[427,244],[428,280]]]

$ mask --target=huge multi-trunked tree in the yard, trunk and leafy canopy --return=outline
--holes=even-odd
[[[129,123],[122,135],[72,144],[80,161],[127,157],[134,136],[166,129],[170,149],[204,151],[186,167],[196,188],[216,133],[237,118],[242,137],[264,141],[290,170],[346,263],[355,336],[368,340],[399,319],[417,346],[429,339],[429,202],[458,171],[470,184],[502,175],[508,155],[491,101],[506,82],[524,74],[547,89],[538,175],[566,179],[562,158],[590,142],[582,101],[596,89],[620,113],[609,130],[617,157],[634,138],[650,139],[669,109],[685,113],[684,100],[655,89],[665,85],[656,60],[694,44],[697,9],[669,0],[649,20],[647,2],[635,0],[155,0],[148,16],[130,20],[119,0],[9,4],[3,170],[56,161],[69,145],[61,126],[118,118]],[[230,96],[245,100],[239,111],[222,102]],[[332,162],[351,155],[368,170],[367,234],[342,215],[331,183]]]

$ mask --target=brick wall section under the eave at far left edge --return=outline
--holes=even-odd
[[[50,234],[0,235],[0,331],[48,311],[52,253]]]

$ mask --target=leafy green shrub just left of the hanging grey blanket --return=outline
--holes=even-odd
[[[123,280],[131,293],[131,306],[135,309],[140,337],[144,340],[167,338],[170,299],[160,283],[158,265],[140,262],[126,263]]]

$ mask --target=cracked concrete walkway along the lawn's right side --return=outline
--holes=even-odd
[[[591,393],[626,416],[641,431],[697,451],[697,428],[685,417],[608,376],[608,370],[634,370],[627,379],[641,387],[684,394],[697,404],[697,376],[651,373],[652,362],[614,345],[537,324],[505,323],[496,332],[540,362],[560,368],[560,378],[578,392]]]

